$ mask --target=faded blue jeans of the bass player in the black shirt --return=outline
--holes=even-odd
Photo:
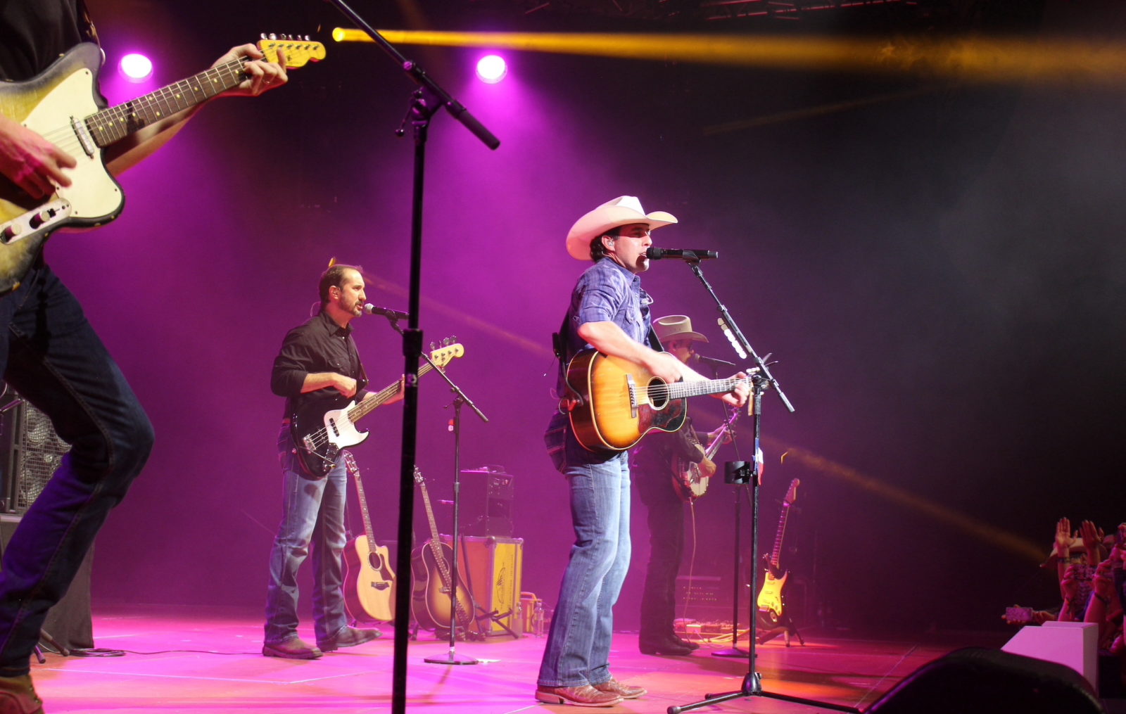
[[[289,428],[278,434],[282,462],[282,524],[270,551],[270,580],[266,588],[266,644],[297,636],[297,569],[313,550],[313,628],[324,642],[348,625],[345,615],[341,560],[348,473],[343,456],[323,479],[302,475],[293,454]]]

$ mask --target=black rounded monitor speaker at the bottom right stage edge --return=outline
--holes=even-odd
[[[1056,662],[967,648],[923,664],[866,714],[1103,714],[1079,672]]]

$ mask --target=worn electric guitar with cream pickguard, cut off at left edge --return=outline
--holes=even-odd
[[[284,51],[287,69],[324,57],[324,45],[307,39],[262,39],[258,48],[270,62]],[[0,82],[5,115],[78,161],[68,170],[73,184],[46,198],[33,198],[0,177],[0,295],[19,287],[53,231],[93,227],[120,215],[125,196],[106,170],[106,146],[239,86],[248,77],[244,63],[232,60],[109,108],[97,91],[101,50],[91,43],[75,45],[26,82]]]

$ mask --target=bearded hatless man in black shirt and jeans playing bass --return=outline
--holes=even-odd
[[[351,321],[364,313],[361,268],[331,265],[321,276],[320,312],[286,334],[274,360],[270,389],[286,398],[278,459],[282,462],[283,512],[270,551],[262,654],[311,660],[339,648],[379,637],[379,630],[349,627],[345,613],[342,552],[347,544],[345,507],[346,452],[333,454],[327,475],[302,463],[301,438],[292,420],[310,410],[322,413],[348,400],[375,399],[351,337]],[[402,399],[402,383],[394,398]],[[322,409],[323,408],[323,409]],[[314,456],[315,458],[315,456]],[[313,627],[316,645],[297,636],[297,569],[313,552]]]

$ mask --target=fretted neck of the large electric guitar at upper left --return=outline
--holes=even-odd
[[[95,143],[105,148],[153,122],[238,87],[244,79],[243,61],[231,60],[143,97],[91,114],[86,118],[86,125]]]

